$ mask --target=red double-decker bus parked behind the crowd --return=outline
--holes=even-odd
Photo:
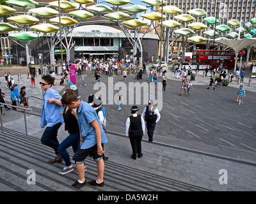
[[[227,69],[235,67],[235,51],[231,50],[214,50],[212,59],[212,50],[193,50],[192,63],[200,65],[208,65],[212,68],[219,66]]]

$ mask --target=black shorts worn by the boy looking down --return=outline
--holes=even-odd
[[[103,149],[103,143],[102,149]],[[89,147],[88,149],[79,149],[73,156],[73,160],[75,161],[76,164],[82,164],[84,159],[86,157],[92,156],[94,161],[100,161],[100,159],[103,158],[103,156],[98,155],[97,153],[97,144],[93,145],[92,147]]]

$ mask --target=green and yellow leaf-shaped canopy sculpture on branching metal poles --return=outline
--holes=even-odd
[[[14,32],[20,29],[20,27],[24,27],[24,29],[19,30],[19,34],[10,33],[10,38],[15,37],[16,40],[26,41],[29,42],[30,40],[35,40],[35,34],[33,32],[40,32],[43,34],[51,34],[51,33],[58,33],[60,32],[60,27],[63,29],[63,32],[68,32],[65,27],[72,26],[76,27],[79,25],[82,20],[90,19],[93,17],[103,17],[111,21],[116,21],[120,25],[122,31],[125,32],[127,38],[131,38],[132,45],[134,48],[138,48],[140,52],[142,52],[142,45],[141,39],[143,37],[139,37],[140,28],[144,25],[147,25],[147,22],[144,20],[140,20],[137,18],[131,18],[131,15],[136,15],[136,13],[145,12],[144,14],[140,15],[141,18],[146,18],[147,20],[151,21],[151,24],[148,26],[148,29],[145,33],[149,32],[150,29],[155,29],[156,34],[158,34],[156,29],[156,22],[161,20],[159,25],[166,28],[166,34],[164,35],[161,33],[158,34],[159,38],[164,37],[166,39],[164,45],[164,57],[168,57],[168,51],[170,45],[173,43],[174,40],[177,38],[182,38],[182,47],[183,47],[183,54],[185,53],[185,49],[187,46],[187,41],[189,43],[193,43],[196,45],[198,43],[207,43],[207,47],[211,45],[211,38],[216,38],[217,36],[225,37],[228,39],[236,40],[237,38],[246,38],[251,39],[256,36],[256,18],[252,18],[251,22],[246,22],[242,27],[241,23],[236,19],[228,20],[227,24],[220,24],[220,20],[215,17],[207,17],[207,13],[200,9],[195,8],[189,10],[187,13],[182,13],[180,8],[176,6],[164,6],[166,1],[163,1],[163,8],[162,8],[162,0],[141,0],[141,2],[147,4],[148,6],[142,6],[140,4],[133,4],[130,0],[106,0],[105,3],[111,4],[113,7],[106,6],[104,4],[96,4],[93,0],[74,0],[77,4],[71,3],[70,1],[52,1],[49,3],[49,6],[40,7],[40,8],[32,8],[28,12],[34,13],[38,16],[38,18],[32,17],[31,15],[26,15],[24,12],[23,15],[17,15],[15,12],[16,10],[10,8],[9,6],[0,5],[0,15],[12,15],[8,17],[9,22],[13,22],[13,24],[8,24],[8,22],[1,22],[0,23],[0,33],[8,33]],[[8,0],[6,3],[11,4],[13,6],[17,6],[19,8],[28,8],[29,5],[34,4],[38,6],[38,3],[33,0]],[[85,7],[84,7],[85,4]],[[93,4],[87,6],[87,4]],[[58,9],[60,6],[61,11],[68,11],[72,10],[69,13],[62,12],[61,20],[60,17],[56,17],[59,15],[59,11],[55,10],[54,8]],[[119,9],[122,6],[122,11]],[[160,6],[159,10],[156,10],[156,6]],[[148,8],[150,8],[150,12],[147,12]],[[163,12],[163,13],[162,13]],[[172,20],[170,16],[173,15]],[[39,23],[40,19],[43,19],[44,23]],[[198,18],[201,18],[203,22],[196,22]],[[49,20],[50,23],[46,23],[45,19]],[[154,23],[153,23],[154,22]],[[204,24],[206,22],[206,24]],[[35,24],[35,25],[32,25]],[[216,25],[218,24],[218,25]],[[212,26],[216,25],[216,30],[212,29]],[[30,27],[29,27],[30,26]],[[129,29],[134,29],[134,38],[137,40],[132,39],[131,34],[124,27]],[[152,28],[153,27],[153,28]],[[32,32],[29,32],[32,31]],[[204,31],[205,30],[205,31]],[[24,33],[20,32],[23,31]],[[72,31],[69,31],[72,33]],[[170,34],[174,32],[177,34],[176,38],[169,43]],[[32,33],[32,35],[31,35]],[[202,36],[198,35],[198,33],[202,33]],[[33,35],[34,34],[34,35]],[[38,36],[38,35],[37,35]],[[144,36],[144,35],[143,35]],[[56,36],[55,36],[56,37]],[[65,37],[67,34],[65,33]],[[63,38],[65,38],[63,37]],[[52,38],[52,37],[51,37]],[[58,38],[58,37],[56,37]],[[62,37],[61,37],[62,38]],[[59,39],[59,42],[62,42],[62,39]],[[140,38],[140,39],[139,39]],[[254,39],[254,38],[253,38]],[[28,41],[27,41],[28,40]],[[71,40],[71,38],[70,38]],[[252,39],[251,39],[252,40]],[[223,39],[222,39],[223,41]],[[221,41],[221,42],[222,42]],[[227,41],[227,40],[225,40]],[[216,40],[216,42],[220,43],[220,39]],[[223,43],[223,42],[222,42]],[[56,42],[54,43],[56,45]],[[74,44],[72,44],[74,45]],[[67,50],[72,47],[71,43],[67,43]],[[222,44],[230,47],[229,44]],[[246,45],[246,43],[243,43]],[[253,43],[251,45],[254,45]],[[232,48],[232,47],[230,47]],[[235,50],[236,51],[236,50]],[[239,52],[239,51],[238,51]],[[54,57],[54,56],[53,56]],[[183,58],[183,56],[182,56]]]

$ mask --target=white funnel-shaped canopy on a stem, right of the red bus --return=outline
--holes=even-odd
[[[236,57],[240,50],[250,45],[256,46],[256,38],[243,38],[243,39],[228,39],[228,38],[217,38],[215,40],[220,45],[227,45],[236,52]],[[236,72],[237,58],[235,62],[234,72]],[[240,63],[241,66],[241,63]],[[241,67],[240,67],[241,68]]]

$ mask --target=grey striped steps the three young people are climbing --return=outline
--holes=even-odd
[[[0,190],[1,191],[207,191],[178,180],[136,170],[114,161],[105,161],[104,187],[89,184],[76,189],[71,185],[77,173],[60,175],[64,163],[49,164],[53,151],[42,145],[38,138],[17,131],[4,129],[0,133]],[[70,157],[74,155],[68,149]],[[86,158],[87,181],[97,179],[97,167],[92,158]],[[28,170],[35,170],[36,185],[27,184]]]

